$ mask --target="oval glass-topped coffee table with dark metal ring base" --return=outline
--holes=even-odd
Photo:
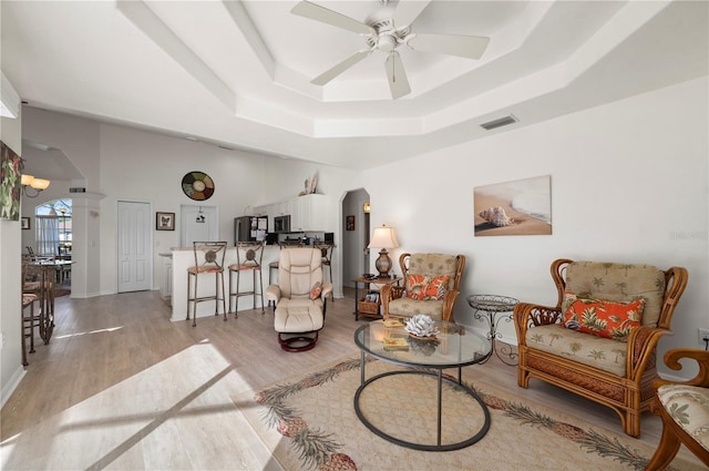
[[[435,339],[424,340],[411,338],[403,329],[399,327],[386,327],[383,320],[376,320],[364,326],[360,326],[354,332],[354,344],[361,350],[360,364],[360,386],[354,393],[354,412],[359,420],[377,436],[401,447],[411,448],[422,451],[451,451],[470,447],[480,441],[490,429],[490,411],[483,400],[464,385],[461,380],[461,370],[469,365],[475,365],[484,361],[490,355],[491,342],[485,337],[473,331],[466,330],[462,326],[452,322],[436,322],[436,327],[441,330]],[[384,339],[401,339],[399,346],[388,345],[384,347]],[[427,348],[410,348],[419,342],[425,342]],[[369,379],[366,376],[366,356],[370,355],[380,360],[408,367],[408,369],[387,371],[376,375]],[[443,370],[448,368],[458,368],[458,380],[443,376]],[[436,441],[435,443],[413,443],[402,440],[382,431],[374,426],[363,413],[360,407],[360,397],[362,392],[374,381],[395,375],[423,375],[438,379],[438,423],[436,423]],[[467,393],[475,400],[484,414],[482,427],[472,437],[454,442],[442,443],[441,440],[441,417],[442,417],[442,386],[443,381],[454,385],[455,388]]]

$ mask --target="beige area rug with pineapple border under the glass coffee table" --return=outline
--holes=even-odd
[[[400,368],[368,358],[366,376],[393,369]],[[490,409],[491,426],[482,440],[455,451],[411,450],[367,429],[353,408],[359,357],[232,399],[286,470],[643,470],[655,451],[625,434],[525,403],[510,391],[469,382],[467,371],[463,380]],[[386,433],[427,443],[435,440],[435,393],[434,378],[388,376],[362,392],[360,408]],[[475,434],[482,420],[480,405],[444,382],[443,443]],[[672,467],[703,469],[680,458]]]

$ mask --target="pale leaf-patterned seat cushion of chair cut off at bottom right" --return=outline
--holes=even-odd
[[[675,422],[709,451],[709,389],[664,385],[657,389],[657,397]]]

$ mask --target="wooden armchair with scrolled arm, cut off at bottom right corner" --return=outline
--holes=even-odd
[[[689,381],[655,381],[650,411],[662,419],[662,437],[647,471],[666,469],[681,443],[709,467],[709,351],[676,348],[665,354],[665,364],[679,370],[680,358],[696,360],[699,372]]]

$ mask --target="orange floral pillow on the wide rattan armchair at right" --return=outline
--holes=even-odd
[[[579,332],[626,341],[630,330],[640,327],[645,299],[613,303],[566,293],[562,325]]]

